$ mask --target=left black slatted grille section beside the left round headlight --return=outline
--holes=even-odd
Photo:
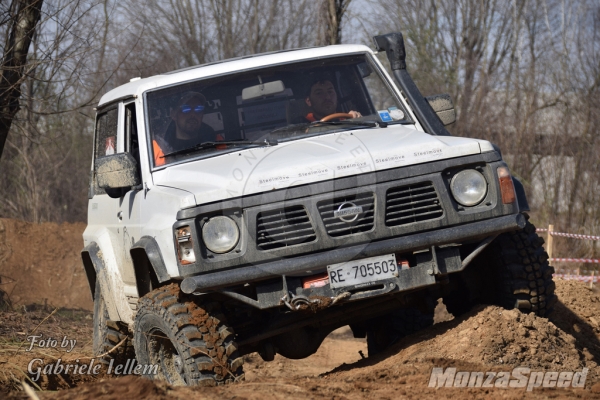
[[[278,249],[316,239],[304,206],[264,211],[256,216],[256,244],[262,250]]]

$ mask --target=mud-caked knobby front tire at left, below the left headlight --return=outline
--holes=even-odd
[[[158,365],[158,374],[149,378],[181,386],[243,379],[243,358],[218,303],[186,297],[171,284],[148,293],[138,305],[133,335],[137,360]]]

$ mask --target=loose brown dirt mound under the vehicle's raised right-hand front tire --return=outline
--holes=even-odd
[[[596,366],[591,353],[583,354],[572,335],[533,313],[482,306],[465,318],[442,335],[401,350],[397,357],[468,360],[538,369]]]

